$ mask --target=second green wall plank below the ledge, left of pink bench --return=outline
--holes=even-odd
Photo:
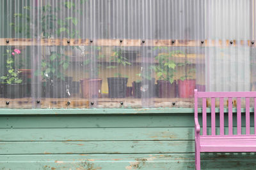
[[[157,141],[193,139],[193,127],[0,129],[0,141]]]

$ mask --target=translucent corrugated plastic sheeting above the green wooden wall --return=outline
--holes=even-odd
[[[193,108],[256,89],[255,0],[2,0],[1,108]]]

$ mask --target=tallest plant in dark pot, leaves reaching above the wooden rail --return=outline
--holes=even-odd
[[[81,3],[84,3],[84,1]],[[22,35],[28,38],[31,36],[43,39],[55,38],[56,36],[77,38],[79,37],[79,32],[71,28],[76,27],[79,20],[76,17],[58,18],[59,12],[65,8],[78,13],[81,12],[81,9],[74,10],[76,4],[70,1],[60,2],[56,8],[52,8],[51,3],[40,7],[24,6],[23,13],[14,14],[16,19],[11,25],[16,32],[22,33]],[[35,20],[31,20],[29,15],[30,10],[38,11],[38,13],[41,13],[41,17],[35,17]],[[22,20],[27,21],[26,25],[20,23]],[[36,29],[40,32],[36,31],[32,35],[31,25],[33,27],[40,27],[40,29]],[[78,46],[70,46],[70,48],[79,49]],[[35,76],[42,76],[42,97],[69,97],[72,91],[70,89],[72,88],[72,77],[63,74],[70,64],[70,57],[65,55],[67,48],[65,46],[44,46],[42,50],[44,51],[44,55],[42,55],[41,60],[40,58],[37,60],[37,62],[41,62],[41,67],[38,67],[38,70],[35,71]]]

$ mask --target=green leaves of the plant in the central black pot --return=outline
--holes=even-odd
[[[111,59],[110,61],[114,64],[115,62],[117,63],[118,66],[127,66],[127,65],[131,65],[131,62],[128,61],[128,59],[126,57],[123,56],[124,54],[124,50],[122,50],[121,48],[119,48],[118,50],[116,50],[114,52],[114,55],[111,56]],[[108,69],[114,69],[116,68],[117,66],[108,66],[107,68]],[[127,77],[125,75],[122,75],[122,73],[115,73],[114,74],[115,77]]]

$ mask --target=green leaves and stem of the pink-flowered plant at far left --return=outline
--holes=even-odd
[[[6,59],[6,68],[7,74],[5,76],[1,76],[0,79],[7,84],[19,84],[22,83],[22,79],[18,77],[18,71],[14,68],[14,55],[12,55],[14,51],[6,50],[4,56],[7,56]],[[18,55],[18,54],[15,54]]]

